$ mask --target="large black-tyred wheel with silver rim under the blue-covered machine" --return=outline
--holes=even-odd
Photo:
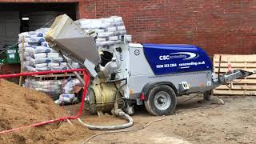
[[[150,114],[170,115],[176,108],[176,94],[170,86],[154,86],[144,104]]]

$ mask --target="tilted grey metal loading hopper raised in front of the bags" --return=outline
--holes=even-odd
[[[94,38],[80,29],[66,14],[55,19],[46,35],[46,41],[54,50],[60,51],[82,66],[85,65],[91,76],[97,75],[94,67],[101,59]]]

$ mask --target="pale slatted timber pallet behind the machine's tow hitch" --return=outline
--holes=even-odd
[[[214,54],[214,71],[216,74],[218,74],[219,56],[220,54]],[[228,71],[227,66],[229,62],[231,64],[232,70],[235,70],[235,69],[242,69],[247,71],[256,70],[256,54],[252,54],[252,55],[222,54],[220,74],[225,74]],[[246,78],[236,79],[233,82],[229,82],[227,86],[226,85],[218,86],[216,89],[214,89],[214,94],[256,95],[256,74]]]

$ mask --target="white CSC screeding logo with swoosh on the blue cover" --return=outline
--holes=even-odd
[[[194,58],[198,58],[198,54],[190,53],[190,52],[178,52],[178,53],[171,53],[168,55],[160,55],[159,59],[161,61],[166,61],[170,59],[177,59],[177,58],[182,58],[182,60],[190,60]]]

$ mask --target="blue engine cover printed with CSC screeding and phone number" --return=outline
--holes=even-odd
[[[212,70],[205,50],[194,45],[142,44],[147,62],[154,74]]]

